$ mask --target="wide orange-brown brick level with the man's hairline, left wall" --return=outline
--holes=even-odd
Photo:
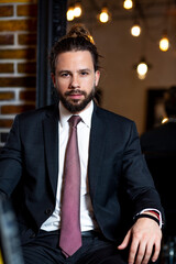
[[[0,58],[35,58],[35,48],[0,50]]]

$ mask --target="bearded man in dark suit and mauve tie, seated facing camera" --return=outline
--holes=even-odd
[[[51,53],[59,103],[18,116],[2,150],[0,190],[3,196],[12,195],[28,264],[145,264],[158,257],[160,197],[141,155],[134,123],[92,101],[100,78],[98,58],[89,33],[80,25],[73,26]],[[74,128],[68,124],[72,116],[80,118]],[[77,146],[70,147],[73,134],[78,139],[79,158],[75,158]],[[70,155],[70,148],[75,154]],[[78,179],[74,182],[72,176],[79,172],[80,199],[75,202],[73,189]],[[68,182],[74,184],[66,195]],[[133,204],[135,222],[118,246],[123,188]],[[80,210],[75,212],[79,202]],[[72,208],[67,217],[65,204]],[[77,239],[79,229],[81,238]]]

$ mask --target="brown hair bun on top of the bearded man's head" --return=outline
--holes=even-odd
[[[68,31],[66,37],[85,37],[87,41],[95,44],[90,32],[85,28],[84,24],[74,24]]]

